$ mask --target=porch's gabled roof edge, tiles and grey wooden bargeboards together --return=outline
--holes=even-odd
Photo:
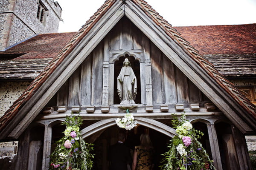
[[[3,134],[0,139],[8,135],[17,138],[44,107],[43,103],[49,101],[52,92],[61,87],[58,80],[64,83],[75,71],[74,65],[79,65],[90,54],[91,48],[95,47],[124,15],[201,91],[212,95],[215,105],[231,121],[236,122],[243,133],[256,130],[256,107],[151,6],[143,0],[107,0],[0,118],[0,131]],[[202,81],[198,82],[198,79]],[[35,104],[40,101],[43,103]],[[248,126],[239,125],[240,120],[247,122]],[[19,129],[15,129],[18,123]]]

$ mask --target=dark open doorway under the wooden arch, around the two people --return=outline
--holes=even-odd
[[[108,148],[117,142],[117,133],[120,129],[117,126],[112,126],[100,132],[99,137],[95,140],[94,144],[94,164],[93,170],[108,170]],[[156,130],[150,129],[145,126],[137,126],[132,130],[125,130],[127,139],[125,144],[131,150],[133,156],[134,147],[140,145],[140,135],[148,133],[154,147],[154,170],[160,170],[161,154],[167,151],[167,144],[171,140],[169,136],[164,135]],[[90,137],[88,137],[90,138]],[[90,139],[85,139],[85,141]]]

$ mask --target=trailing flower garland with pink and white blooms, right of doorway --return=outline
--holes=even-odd
[[[169,144],[169,151],[163,154],[162,170],[216,170],[206,150],[198,139],[204,135],[195,130],[182,114],[180,120],[175,116],[172,125],[176,133]]]

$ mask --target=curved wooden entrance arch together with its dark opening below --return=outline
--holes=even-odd
[[[108,170],[108,148],[117,142],[119,130],[124,130],[116,125],[115,119],[103,119],[81,130],[85,141],[94,144],[93,170]],[[125,130],[127,135],[125,144],[130,148],[133,156],[134,147],[140,145],[140,135],[148,133],[155,150],[154,170],[159,170],[161,154],[167,151],[167,144],[175,135],[175,130],[154,119],[137,117],[136,120],[137,127]]]

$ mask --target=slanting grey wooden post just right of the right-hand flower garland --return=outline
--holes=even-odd
[[[218,138],[217,133],[215,130],[215,126],[213,124],[207,124],[208,134],[209,134],[209,141],[212,151],[212,159],[213,159],[213,165],[217,170],[222,170],[221,165],[221,154],[218,146]]]

